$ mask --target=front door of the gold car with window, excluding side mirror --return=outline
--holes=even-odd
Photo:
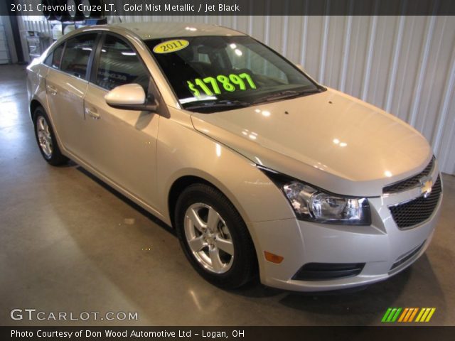
[[[159,114],[114,109],[105,94],[119,85],[138,83],[156,91],[137,51],[124,38],[105,33],[85,96],[84,159],[139,200],[154,206],[156,136]]]

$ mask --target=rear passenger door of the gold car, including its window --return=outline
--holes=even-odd
[[[82,33],[70,38],[46,60],[50,65],[45,79],[50,116],[63,148],[77,157],[87,148],[83,139],[84,97],[97,36]]]

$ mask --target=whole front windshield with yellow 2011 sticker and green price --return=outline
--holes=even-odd
[[[321,91],[294,65],[248,36],[145,43],[187,110],[218,112]]]

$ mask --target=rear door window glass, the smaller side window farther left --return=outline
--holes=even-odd
[[[84,34],[66,42],[60,70],[85,79],[90,53],[95,48],[96,33]]]

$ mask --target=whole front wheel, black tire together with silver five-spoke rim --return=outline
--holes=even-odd
[[[219,190],[203,183],[188,186],[178,197],[175,222],[186,258],[210,283],[233,289],[257,276],[245,222]]]

